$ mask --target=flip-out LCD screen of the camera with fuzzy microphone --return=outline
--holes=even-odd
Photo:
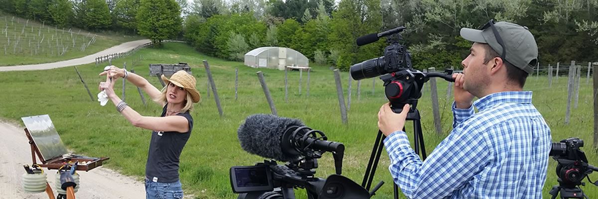
[[[231,167],[233,192],[271,191],[272,177],[266,166]]]

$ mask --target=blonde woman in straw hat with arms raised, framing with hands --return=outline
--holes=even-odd
[[[185,71],[178,71],[170,79],[162,75],[166,87],[162,90],[149,84],[147,79],[111,66],[100,75],[106,75],[106,82],[100,82],[100,90],[105,90],[117,111],[136,127],[152,130],[148,160],[145,164],[146,198],[182,198],[183,191],[179,180],[179,157],[193,129],[190,115],[193,103],[200,100],[196,90],[196,79]],[[114,93],[117,78],[127,79],[163,107],[160,117],[140,115],[124,103]]]

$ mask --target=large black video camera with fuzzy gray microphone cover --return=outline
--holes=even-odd
[[[242,148],[261,157],[286,161],[278,165],[264,160],[255,166],[234,166],[230,183],[239,199],[295,198],[294,189],[306,189],[310,199],[367,199],[374,194],[341,176],[344,145],[328,141],[322,131],[299,120],[257,114],[246,118],[237,131]],[[315,177],[318,158],[332,152],[336,174]]]

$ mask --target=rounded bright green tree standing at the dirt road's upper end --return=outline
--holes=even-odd
[[[158,45],[181,31],[181,9],[175,0],[141,0],[136,20],[139,35]]]

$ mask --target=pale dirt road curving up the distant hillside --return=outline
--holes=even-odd
[[[149,39],[141,39],[137,41],[130,41],[120,45],[116,45],[114,47],[108,48],[106,50],[99,51],[96,54],[91,54],[89,56],[80,57],[77,59],[65,60],[60,62],[53,62],[53,63],[40,63],[35,65],[20,65],[20,66],[0,66],[1,71],[36,71],[36,70],[46,70],[46,69],[54,69],[54,68],[62,68],[67,66],[77,66],[77,65],[84,65],[87,63],[94,63],[96,62],[96,57],[106,56],[112,53],[124,53],[126,51],[132,50],[140,45],[147,44],[151,41]]]

